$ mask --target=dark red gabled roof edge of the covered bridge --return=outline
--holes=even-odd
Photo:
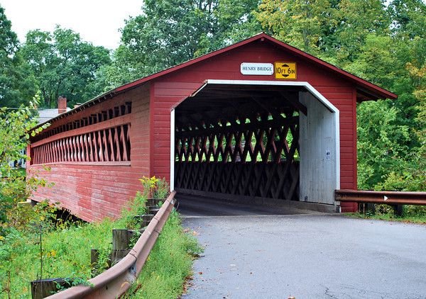
[[[252,36],[251,38],[248,38],[246,40],[242,40],[239,43],[235,43],[233,45],[229,45],[228,47],[224,47],[222,49],[219,49],[219,50],[216,50],[216,51],[213,51],[213,52],[209,52],[206,55],[202,55],[202,56],[194,58],[192,60],[188,60],[187,62],[183,62],[181,64],[175,65],[174,67],[170,67],[168,69],[163,69],[162,71],[157,72],[155,74],[151,74],[151,75],[143,77],[141,79],[137,79],[135,81],[132,81],[128,84],[124,84],[122,86],[116,87],[115,89],[111,89],[110,91],[107,91],[106,93],[104,93],[100,96],[97,96],[96,98],[93,98],[90,101],[83,103],[82,105],[78,106],[77,108],[73,108],[70,111],[67,111],[66,113],[62,113],[62,114],[58,115],[57,117],[51,119],[50,122],[53,122],[53,121],[58,120],[60,118],[64,118],[67,115],[77,113],[78,111],[81,111],[84,108],[87,108],[89,106],[93,106],[96,103],[107,100],[108,98],[112,98],[116,94],[121,94],[125,91],[129,91],[130,89],[136,88],[137,86],[141,86],[142,84],[145,84],[146,82],[151,81],[153,79],[157,79],[158,77],[163,77],[166,74],[176,72],[176,71],[183,69],[185,67],[189,67],[192,64],[197,64],[198,62],[208,60],[209,58],[215,57],[217,55],[221,55],[224,52],[228,52],[230,50],[234,50],[234,49],[237,49],[239,47],[243,47],[244,45],[256,42],[258,40],[267,40],[270,43],[277,45],[278,47],[281,47],[283,50],[285,50],[287,52],[291,52],[291,54],[295,55],[296,57],[300,57],[303,60],[307,60],[308,62],[315,64],[317,67],[327,69],[329,72],[337,74],[337,76],[342,77],[343,79],[346,79],[348,81],[351,81],[356,86],[356,89],[359,92],[359,94],[361,95],[361,98],[363,100],[366,100],[366,99],[373,100],[373,99],[378,99],[378,98],[395,99],[395,98],[398,97],[396,94],[393,94],[391,91],[387,91],[386,89],[382,89],[381,87],[377,86],[376,84],[372,84],[371,82],[368,82],[364,79],[361,79],[360,77],[357,77],[354,74],[346,72],[343,69],[339,69],[339,67],[336,67],[333,64],[329,64],[328,62],[325,62],[324,60],[320,60],[320,58],[317,58],[315,56],[307,54],[307,52],[303,52],[302,50],[299,50],[296,47],[293,47],[291,45],[283,43],[280,40],[277,40],[277,39],[271,37],[270,35],[267,35],[266,33],[259,33],[257,35]]]

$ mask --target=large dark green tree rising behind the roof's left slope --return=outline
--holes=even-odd
[[[99,77],[114,87],[258,33],[257,0],[147,0]]]

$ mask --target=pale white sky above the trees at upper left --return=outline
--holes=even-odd
[[[0,5],[21,43],[28,30],[52,32],[58,24],[93,45],[115,49],[119,28],[129,16],[141,14],[142,0],[0,0]]]

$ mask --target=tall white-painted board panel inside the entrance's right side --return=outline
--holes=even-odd
[[[338,188],[336,113],[310,92],[301,91],[299,100],[307,108],[300,113],[300,201],[334,204]]]

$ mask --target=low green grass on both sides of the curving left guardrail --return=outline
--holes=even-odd
[[[144,203],[136,196],[135,203]],[[132,206],[123,217],[105,219],[97,224],[80,224],[56,229],[42,235],[43,278],[91,277],[90,249],[100,252],[100,269],[107,266],[111,252],[111,230],[129,226]],[[191,275],[192,259],[201,252],[194,237],[184,232],[173,211],[148,257],[138,281],[131,288],[132,298],[177,298],[185,279]],[[31,298],[30,281],[40,277],[39,234],[11,230],[0,239],[0,298]]]

